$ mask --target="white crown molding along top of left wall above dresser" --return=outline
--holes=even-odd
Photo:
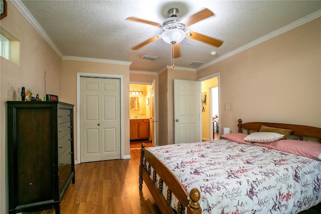
[[[35,18],[30,14],[28,9],[22,4],[21,0],[10,1],[17,10],[25,17],[25,19],[31,24],[31,26],[40,34],[40,36],[48,43],[48,45],[56,52],[56,54],[62,59],[63,54],[55,45],[55,43],[50,39],[44,29],[39,25]]]

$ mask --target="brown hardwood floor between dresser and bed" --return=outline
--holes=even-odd
[[[140,150],[130,150],[130,160],[110,160],[75,165],[76,182],[70,183],[61,200],[62,214],[159,214],[146,185],[138,189]],[[44,209],[23,214],[54,214]],[[321,204],[300,214],[321,213]]]

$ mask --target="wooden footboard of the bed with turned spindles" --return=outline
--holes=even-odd
[[[190,191],[190,199],[183,188],[180,181],[175,177],[175,175],[153,154],[148,150],[145,150],[145,144],[141,144],[140,151],[140,164],[139,164],[139,191],[142,189],[143,181],[145,181],[151,195],[153,196],[158,208],[162,213],[175,213],[171,208],[170,204],[172,201],[173,194],[179,200],[177,213],[184,213],[184,207],[187,207],[187,213],[189,214],[200,214],[202,209],[200,207],[201,194],[197,188],[193,188]],[[148,162],[148,167],[147,167]],[[151,175],[150,167],[153,169]],[[158,186],[156,186],[156,174],[159,176],[157,181]],[[164,198],[163,183],[168,186],[167,198]]]

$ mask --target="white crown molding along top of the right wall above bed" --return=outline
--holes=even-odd
[[[295,22],[292,22],[292,23],[290,23],[290,24],[288,24],[288,25],[286,25],[286,26],[284,26],[284,27],[282,27],[282,28],[280,28],[278,30],[275,30],[275,31],[273,31],[273,32],[271,32],[271,33],[269,33],[269,34],[267,34],[267,35],[265,35],[265,36],[263,36],[263,37],[261,37],[261,38],[259,38],[257,40],[254,40],[253,42],[250,42],[250,43],[248,43],[248,44],[246,44],[246,45],[244,45],[244,46],[242,46],[242,47],[240,47],[238,49],[235,49],[234,51],[231,51],[231,52],[229,52],[229,53],[227,53],[227,54],[225,54],[225,55],[223,55],[223,56],[221,56],[221,57],[219,57],[219,58],[217,58],[217,59],[215,59],[215,60],[213,60],[211,62],[208,62],[208,63],[206,63],[204,65],[201,65],[200,67],[197,68],[197,71],[202,70],[202,69],[204,69],[204,68],[206,68],[206,67],[208,67],[210,65],[213,65],[213,64],[215,64],[217,62],[220,62],[220,61],[222,61],[222,60],[224,60],[226,58],[229,58],[229,57],[231,57],[231,56],[233,56],[235,54],[238,54],[238,53],[240,53],[240,52],[242,52],[242,51],[244,51],[246,49],[249,49],[249,48],[251,48],[251,47],[253,47],[255,45],[258,45],[258,44],[260,44],[262,42],[265,42],[266,40],[272,39],[273,37],[276,37],[276,36],[278,36],[280,34],[283,34],[283,33],[287,32],[287,31],[290,31],[290,30],[292,30],[292,29],[294,29],[296,27],[299,27],[299,26],[301,26],[301,25],[303,25],[305,23],[308,23],[308,22],[310,22],[310,21],[312,21],[314,19],[317,19],[319,17],[321,17],[321,10],[317,10],[314,13],[311,13],[311,14],[309,14],[309,15],[307,15],[307,16],[305,16],[305,17],[303,17],[303,18],[301,18],[301,19],[299,19],[299,20],[297,20]]]

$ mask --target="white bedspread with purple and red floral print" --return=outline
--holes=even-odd
[[[201,192],[202,213],[297,213],[321,201],[321,161],[228,140],[147,148]]]

